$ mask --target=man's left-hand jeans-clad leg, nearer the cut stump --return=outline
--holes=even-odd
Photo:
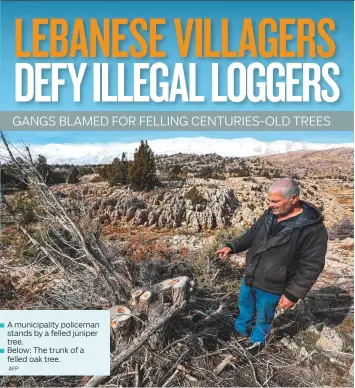
[[[243,279],[238,298],[239,316],[234,323],[235,330],[243,336],[248,335],[247,330],[255,320],[255,303],[255,291],[247,286]]]

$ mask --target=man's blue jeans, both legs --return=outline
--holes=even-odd
[[[279,295],[247,286],[243,279],[239,291],[239,316],[234,323],[235,330],[247,336],[248,329],[253,327],[250,342],[264,344],[269,336],[279,299]]]

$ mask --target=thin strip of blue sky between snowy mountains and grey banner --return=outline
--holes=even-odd
[[[311,143],[352,143],[349,131],[13,131],[9,140],[23,140],[31,144],[48,143],[130,143],[142,139],[171,139],[175,137],[205,136],[214,139],[251,137],[261,141],[291,140]]]

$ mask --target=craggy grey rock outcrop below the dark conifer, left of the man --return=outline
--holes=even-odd
[[[71,202],[83,195],[89,203],[90,216],[98,217],[104,225],[182,227],[194,232],[231,225],[239,206],[233,190],[211,185],[187,184],[182,188],[140,193],[96,183],[59,186],[56,194],[66,199],[68,209],[74,209]]]

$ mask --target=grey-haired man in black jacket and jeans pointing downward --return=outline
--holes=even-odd
[[[320,211],[301,201],[297,182],[273,183],[269,209],[242,236],[217,250],[221,259],[245,250],[246,264],[235,330],[258,353],[270,333],[277,305],[284,310],[303,299],[322,272],[328,235]]]

